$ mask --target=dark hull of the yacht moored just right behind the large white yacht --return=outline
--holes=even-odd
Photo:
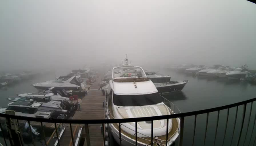
[[[171,92],[177,92],[181,91],[184,86],[187,84],[186,82],[183,82],[181,84],[166,84],[166,83],[158,83],[155,84],[156,89],[158,90],[158,93],[165,94],[165,93],[171,93]]]

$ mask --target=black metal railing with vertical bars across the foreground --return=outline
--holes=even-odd
[[[85,127],[85,142],[87,143],[87,146],[90,146],[90,134],[89,134],[89,126],[88,124],[102,124],[102,127],[103,127],[103,131],[104,131],[104,124],[109,124],[109,123],[118,123],[119,124],[119,136],[121,137],[121,123],[127,123],[127,122],[135,122],[135,144],[134,145],[137,145],[139,144],[137,142],[138,140],[138,137],[137,137],[137,122],[140,122],[140,121],[151,121],[152,123],[156,120],[162,120],[162,119],[166,119],[167,121],[169,121],[168,119],[173,119],[173,118],[180,118],[180,132],[179,132],[179,146],[182,146],[183,145],[183,134],[184,134],[184,121],[185,121],[185,118],[189,118],[190,116],[194,116],[194,125],[193,125],[193,130],[192,130],[192,142],[191,142],[191,145],[194,146],[194,143],[195,143],[195,136],[196,136],[196,121],[197,121],[197,117],[198,115],[202,115],[202,114],[206,114],[206,128],[205,128],[205,131],[204,131],[204,136],[202,137],[202,140],[203,140],[203,145],[206,145],[206,134],[208,132],[208,129],[209,129],[209,125],[208,125],[208,119],[209,119],[209,113],[212,113],[212,112],[218,112],[217,113],[217,120],[216,120],[216,127],[215,127],[215,132],[214,132],[214,136],[212,136],[212,140],[213,140],[213,146],[216,145],[216,139],[217,139],[217,131],[218,131],[218,127],[219,127],[219,117],[220,117],[220,111],[222,110],[227,110],[227,116],[225,118],[225,126],[224,126],[224,137],[223,137],[223,142],[222,142],[222,145],[224,145],[225,143],[225,138],[226,138],[226,135],[227,135],[227,126],[228,126],[228,121],[229,121],[229,117],[230,117],[230,109],[235,107],[236,108],[236,112],[235,112],[235,121],[234,121],[234,126],[233,126],[233,130],[232,130],[232,137],[231,137],[231,144],[234,144],[234,140],[236,140],[236,143],[235,145],[238,146],[238,145],[244,145],[245,144],[245,140],[250,138],[249,140],[249,145],[255,145],[255,141],[256,141],[256,136],[255,134],[253,134],[253,132],[255,131],[255,120],[256,120],[256,115],[254,115],[254,118],[251,118],[252,117],[252,114],[254,112],[252,112],[252,109],[253,109],[253,103],[255,103],[256,101],[256,98],[254,99],[249,99],[249,100],[246,100],[246,101],[242,101],[242,102],[238,102],[238,103],[234,103],[234,104],[230,104],[230,105],[225,105],[225,106],[221,106],[221,107],[214,107],[214,108],[211,108],[211,109],[204,109],[204,110],[199,110],[199,111],[191,111],[191,112],[187,112],[187,113],[177,113],[177,114],[172,114],[172,115],[162,115],[162,116],[154,116],[154,117],[139,117],[139,118],[128,118],[128,119],[88,119],[88,120],[82,120],[82,119],[41,119],[41,118],[33,118],[33,117],[22,117],[22,116],[16,116],[16,115],[7,115],[7,114],[2,114],[0,113],[0,117],[5,117],[6,118],[6,122],[10,122],[10,119],[17,119],[17,122],[19,122],[20,120],[25,120],[25,121],[28,121],[29,125],[31,123],[31,121],[35,121],[35,122],[39,122],[40,125],[43,127],[43,124],[42,122],[45,122],[45,123],[54,123],[54,127],[55,127],[55,130],[56,130],[56,135],[57,135],[57,140],[58,140],[58,145],[61,146],[62,144],[60,143],[59,141],[59,133],[58,133],[58,130],[57,130],[57,125],[56,123],[67,123],[70,125],[71,129],[72,129],[72,126],[71,124],[83,124],[84,127]],[[167,102],[166,102],[167,103]],[[168,104],[171,104],[171,103],[168,103]],[[172,105],[172,104],[171,104]],[[170,107],[171,107],[170,105]],[[247,105],[250,105],[250,107],[248,106],[248,109],[250,109],[250,112],[248,113],[248,116],[246,117],[246,107]],[[237,127],[237,115],[238,115],[238,108],[239,107],[243,107],[242,108],[242,114],[241,114],[241,125],[239,125],[239,130],[237,130],[237,134],[238,134],[238,137],[237,138],[233,138],[234,137],[234,134],[235,134],[235,127]],[[173,111],[176,111],[177,112],[178,108],[173,105]],[[255,114],[255,113],[254,113]],[[248,122],[245,123],[245,119],[249,119]],[[252,119],[252,120],[251,120]],[[250,124],[250,121],[251,124]],[[8,123],[9,124],[9,123]],[[10,124],[9,124],[10,125]],[[152,124],[153,125],[153,124]],[[168,123],[167,123],[168,125]],[[249,133],[248,132],[248,129],[249,129],[249,125],[252,125],[252,132]],[[18,124],[19,126],[19,124]],[[9,126],[8,130],[10,130],[10,127]],[[230,127],[230,126],[229,126]],[[0,128],[2,129],[2,124],[0,124]],[[31,129],[31,127],[29,126],[29,128]],[[108,127],[109,128],[109,127]],[[153,126],[151,126],[151,145],[153,145]],[[236,128],[237,129],[237,128]],[[246,134],[245,134],[245,138],[243,140],[241,140],[241,135],[242,135],[242,131],[243,129],[245,129],[246,131]],[[3,131],[3,130],[2,130]],[[19,139],[18,140],[15,140],[16,142],[14,142],[13,138],[10,137],[9,134],[7,133],[4,133],[2,132],[3,134],[3,139],[4,139],[4,145],[23,145],[22,144],[22,137],[18,137]],[[33,134],[30,132],[31,134],[31,138],[32,138],[32,142],[33,142]],[[44,132],[44,128],[42,128],[42,134],[44,135],[45,132]],[[167,134],[168,134],[168,126],[167,126]],[[70,137],[72,138],[73,135],[72,135],[72,132],[71,132],[71,135]],[[10,141],[10,144],[8,144],[6,138],[9,139]],[[167,138],[168,139],[168,138]],[[230,138],[229,138],[230,139]],[[102,140],[106,140],[105,139],[105,134],[103,134],[103,139]],[[19,142],[17,142],[19,141]],[[44,136],[44,141],[46,142],[46,139],[45,139],[45,136]],[[120,138],[120,141],[119,141],[119,144],[122,145],[122,139]],[[103,142],[104,145],[105,145],[105,142]],[[74,138],[72,138],[72,144],[73,146],[75,146],[75,142],[74,142]],[[231,145],[230,144],[230,145]],[[35,145],[35,143],[33,142],[33,145]],[[45,144],[47,145],[47,144]],[[166,146],[168,145],[168,142],[166,142]]]

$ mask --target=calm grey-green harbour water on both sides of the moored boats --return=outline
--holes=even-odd
[[[218,107],[222,105],[228,105],[231,103],[236,103],[239,101],[244,101],[247,99],[252,99],[256,96],[256,86],[247,82],[237,82],[232,80],[225,79],[210,79],[210,78],[199,78],[193,76],[186,76],[185,74],[180,74],[174,71],[165,70],[165,69],[151,69],[152,71],[158,71],[160,74],[169,75],[172,77],[172,80],[189,80],[186,86],[183,88],[182,92],[172,93],[168,95],[164,95],[167,99],[172,101],[181,112],[188,111],[196,111],[201,109],[208,109],[212,107]],[[37,91],[31,84],[37,82],[44,82],[47,80],[53,80],[56,76],[60,74],[47,74],[42,75],[32,80],[27,80],[24,82],[20,82],[19,84],[15,84],[13,86],[9,86],[6,90],[0,90],[1,102],[0,107],[6,107],[9,103],[6,98],[8,97],[17,97],[17,94],[20,93],[28,93]],[[249,115],[250,105],[247,107],[246,115]],[[250,119],[250,126],[248,130],[249,136],[252,132],[252,121],[254,120],[254,115],[256,111],[256,106],[253,106],[252,110],[252,118]],[[220,122],[218,126],[218,133],[216,138],[215,145],[221,145],[223,140],[223,132],[225,128],[225,119],[226,119],[227,110],[220,112]],[[239,127],[241,125],[241,114],[242,107],[239,107],[237,123],[235,127],[235,135],[232,145],[236,144],[236,140],[239,134]],[[234,115],[235,108],[230,110],[229,114],[229,124],[226,134],[225,145],[230,144],[230,140],[233,132],[234,125]],[[209,114],[209,123],[208,130],[206,135],[206,146],[212,145],[212,137],[215,135],[215,127],[216,127],[216,117],[217,112]],[[245,127],[242,135],[242,144],[245,138],[245,132],[248,123],[248,117],[245,120]],[[205,133],[206,126],[206,114],[198,115],[197,123],[196,123],[196,136],[194,145],[203,145],[203,138]],[[185,118],[185,131],[184,131],[184,145],[191,145],[192,141],[192,133],[194,129],[194,117]],[[256,134],[253,134],[253,138]],[[210,140],[211,139],[211,140]],[[247,142],[246,141],[246,142]],[[253,142],[251,142],[252,145]]]

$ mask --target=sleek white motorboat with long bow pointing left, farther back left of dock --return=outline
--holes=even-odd
[[[62,80],[49,80],[47,82],[32,84],[32,86],[34,86],[38,90],[48,90],[48,88],[51,88],[51,87],[65,89],[65,90],[79,90],[80,89],[80,86],[78,86],[76,84],[71,84],[70,82],[62,81]]]

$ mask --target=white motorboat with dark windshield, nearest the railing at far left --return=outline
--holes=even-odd
[[[52,112],[40,111],[39,108],[42,103],[36,102],[12,102],[8,104],[8,107],[1,107],[0,113],[6,113],[6,111],[15,111],[15,115],[25,117],[40,117],[50,118]]]

